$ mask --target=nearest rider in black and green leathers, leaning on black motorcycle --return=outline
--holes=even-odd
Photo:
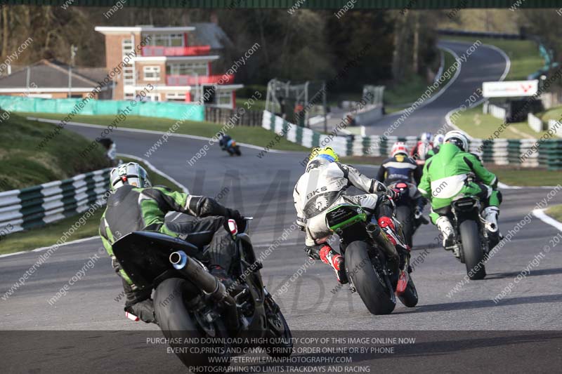
[[[130,232],[160,232],[188,241],[209,260],[211,274],[228,281],[228,271],[235,258],[228,218],[243,226],[244,218],[238,211],[225,208],[209,197],[174,192],[164,186],[152,187],[148,173],[135,162],[113,168],[110,184],[112,194],[107,199],[99,234],[115,271],[122,278],[126,312],[147,323],[155,322],[151,290],[137,289],[113,255],[112,244]],[[202,219],[164,223],[164,216],[170,211]]]

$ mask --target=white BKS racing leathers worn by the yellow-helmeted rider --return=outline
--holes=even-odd
[[[366,194],[344,194],[350,186],[355,186]],[[352,203],[372,214],[379,195],[387,192],[383,183],[367,178],[352,166],[324,159],[309,162],[293,192],[296,223],[306,232],[306,246],[318,245],[332,234],[326,225],[326,212],[329,208],[341,203]]]

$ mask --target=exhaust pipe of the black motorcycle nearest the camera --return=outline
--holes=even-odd
[[[192,260],[183,251],[176,251],[170,254],[169,260],[174,269],[185,275],[195,286],[199,287],[204,293],[214,298],[217,302],[223,303],[228,315],[228,326],[237,329],[240,326],[236,302],[226,290],[224,284],[213,274],[207,272],[199,262]]]

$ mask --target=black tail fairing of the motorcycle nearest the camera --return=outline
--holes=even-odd
[[[200,251],[190,243],[157,232],[131,232],[112,245],[117,262],[140,289],[152,287],[157,276],[174,269],[169,256],[184,251],[197,258]]]

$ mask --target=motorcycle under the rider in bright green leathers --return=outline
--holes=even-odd
[[[457,259],[466,265],[469,279],[484,279],[486,269],[484,262],[499,242],[499,233],[488,232],[481,215],[481,202],[476,196],[459,195],[453,199],[451,206],[438,210],[447,214],[455,229],[454,243],[446,247]]]

